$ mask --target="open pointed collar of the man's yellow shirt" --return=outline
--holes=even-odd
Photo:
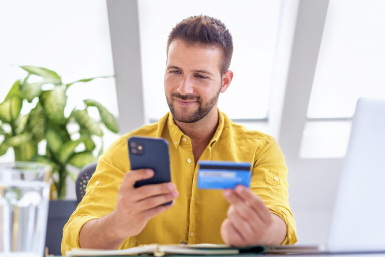
[[[183,136],[187,137],[187,136],[185,136],[183,134],[183,132],[179,129],[179,127],[175,124],[171,112],[168,112],[166,116],[168,116],[167,117],[167,127],[168,127],[168,132],[169,132],[170,138],[172,140],[172,145],[175,148],[177,148],[180,144],[182,137]],[[164,116],[163,118],[165,118],[166,116]],[[218,109],[218,117],[219,117],[218,127],[217,127],[217,130],[216,130],[213,138],[211,139],[211,141],[208,145],[209,148],[212,148],[214,146],[214,144],[221,137],[221,134],[223,131],[223,127],[224,127],[224,123],[225,123],[224,122],[225,117],[224,117],[224,114],[219,109]],[[160,122],[160,120],[159,120],[159,122]]]

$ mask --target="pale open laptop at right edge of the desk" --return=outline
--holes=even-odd
[[[385,252],[385,99],[358,99],[342,169],[326,244],[271,252]]]

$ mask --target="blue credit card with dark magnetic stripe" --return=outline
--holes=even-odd
[[[199,189],[250,187],[251,163],[200,161],[198,164]]]

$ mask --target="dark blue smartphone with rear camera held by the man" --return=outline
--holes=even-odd
[[[128,139],[131,170],[152,169],[154,176],[137,181],[134,187],[171,182],[168,142],[162,138],[131,137]],[[171,204],[171,202],[165,203]]]

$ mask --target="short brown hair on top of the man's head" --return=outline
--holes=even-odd
[[[200,15],[191,16],[179,22],[168,35],[167,54],[171,42],[176,39],[191,44],[201,43],[218,46],[223,53],[221,74],[229,70],[233,55],[233,38],[225,24],[220,20]]]

